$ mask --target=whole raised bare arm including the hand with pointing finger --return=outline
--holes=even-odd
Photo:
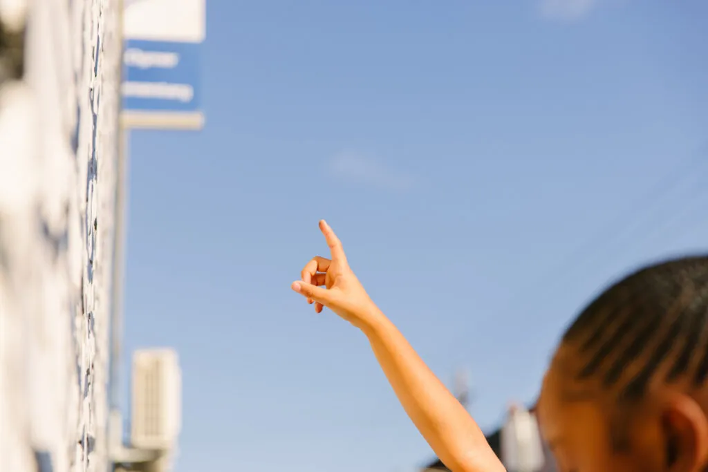
[[[362,330],[406,413],[447,468],[453,472],[503,472],[467,410],[368,297],[332,229],[325,221],[320,221],[319,227],[331,260],[310,260],[292,289],[314,303],[318,313],[326,306]]]

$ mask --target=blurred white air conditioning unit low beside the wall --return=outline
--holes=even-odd
[[[135,351],[130,421],[133,448],[172,450],[176,447],[181,428],[181,390],[176,351]]]

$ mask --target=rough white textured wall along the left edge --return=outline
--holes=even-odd
[[[0,0],[0,470],[108,468],[119,0]]]

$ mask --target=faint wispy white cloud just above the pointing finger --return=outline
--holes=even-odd
[[[329,162],[329,172],[350,183],[393,192],[406,192],[416,183],[413,175],[397,171],[382,161],[355,152],[343,152],[334,156]]]

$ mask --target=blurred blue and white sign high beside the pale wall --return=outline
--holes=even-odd
[[[122,122],[200,128],[205,0],[125,2]]]

